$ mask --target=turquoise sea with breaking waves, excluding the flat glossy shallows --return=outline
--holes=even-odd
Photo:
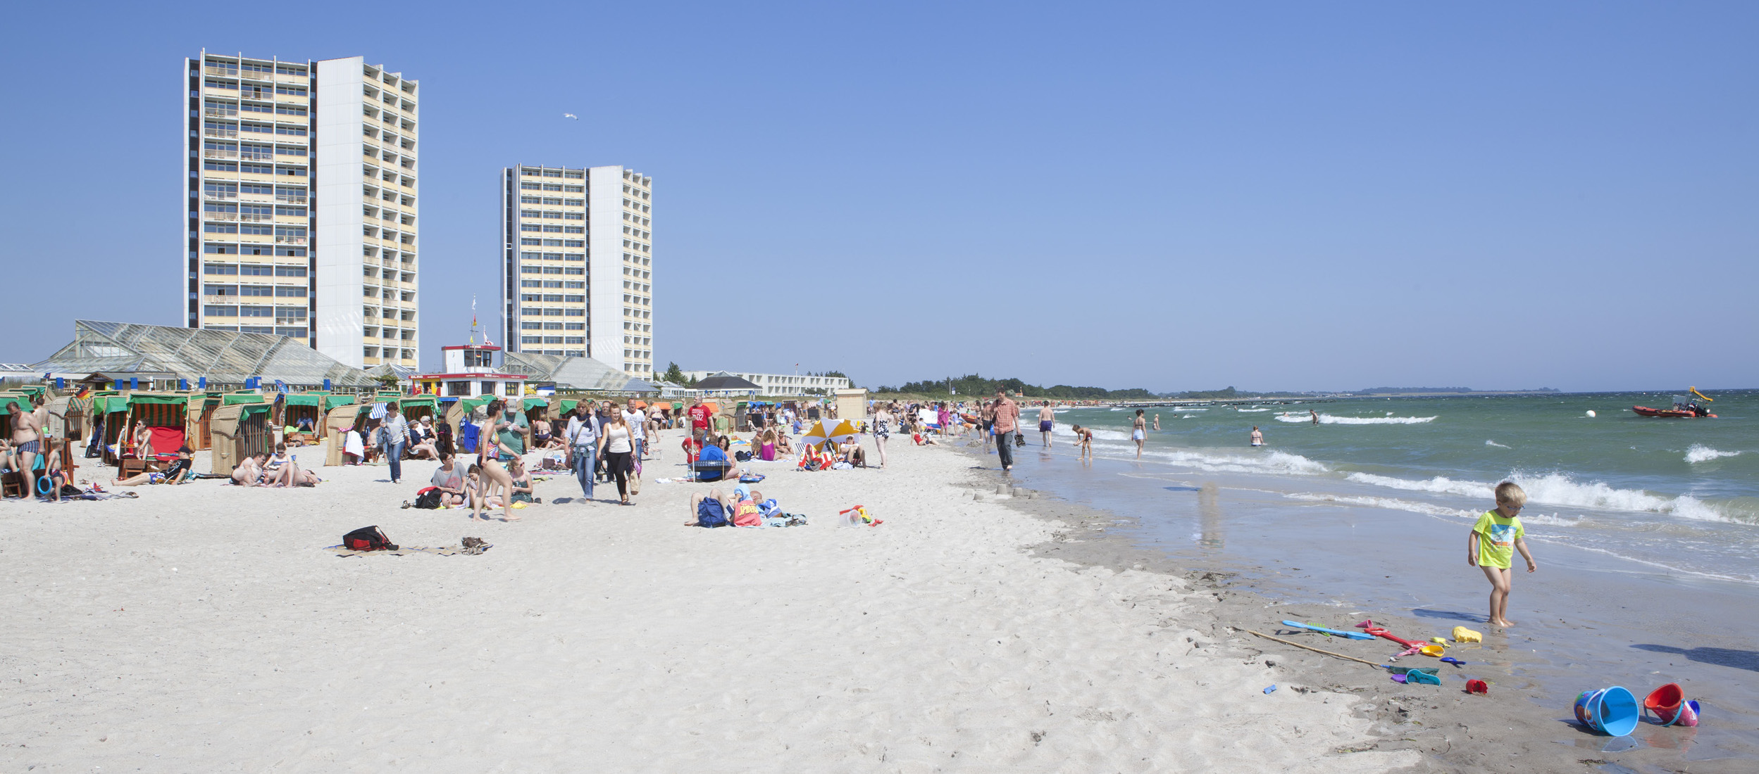
[[[1469,523],[1490,490],[1530,498],[1534,541],[1664,572],[1759,584],[1759,391],[1712,391],[1717,414],[1641,418],[1675,393],[1346,398],[1145,409],[1143,460],[1223,476],[1291,502],[1377,507]],[[1319,423],[1312,423],[1312,412]],[[1588,412],[1595,416],[1588,416]],[[1034,412],[1025,411],[1029,418]],[[1096,428],[1094,453],[1135,458],[1129,409],[1057,412]],[[1263,448],[1249,446],[1252,426]],[[1036,439],[1034,439],[1036,441]]]

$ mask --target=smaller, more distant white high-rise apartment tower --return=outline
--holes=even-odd
[[[623,167],[501,170],[507,351],[651,377],[653,177]]]

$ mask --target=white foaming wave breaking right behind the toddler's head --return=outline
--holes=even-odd
[[[1386,486],[1391,490],[1405,491],[1432,491],[1437,495],[1460,495],[1460,497],[1481,497],[1493,498],[1497,484],[1483,481],[1463,481],[1449,479],[1446,476],[1435,476],[1427,481],[1400,479],[1391,476],[1376,476],[1365,472],[1353,472],[1346,476],[1349,481],[1361,484]],[[1513,474],[1509,481],[1514,481],[1527,491],[1527,502],[1537,502],[1546,505],[1566,505],[1566,507],[1594,507],[1602,511],[1638,511],[1638,512],[1659,512],[1669,516],[1680,516],[1699,521],[1752,521],[1750,518],[1741,518],[1738,514],[1727,514],[1717,507],[1706,504],[1690,495],[1666,497],[1652,495],[1643,490],[1620,490],[1608,486],[1604,481],[1576,481],[1567,474]]]

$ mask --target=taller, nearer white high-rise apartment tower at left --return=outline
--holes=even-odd
[[[415,367],[415,81],[202,51],[188,74],[190,328]]]

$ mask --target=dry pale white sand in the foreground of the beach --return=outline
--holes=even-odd
[[[675,476],[677,435],[649,477]],[[1034,558],[971,460],[758,488],[807,527],[686,528],[705,484],[521,523],[403,511],[434,463],[0,504],[0,770],[1379,770],[1337,693],[1261,693],[1180,579]],[[320,462],[318,449],[303,458]],[[81,472],[88,472],[84,469]],[[609,491],[609,495],[607,495]],[[616,488],[600,488],[614,498]],[[962,497],[966,495],[966,497]],[[865,504],[878,528],[836,527]],[[341,558],[343,532],[494,544]]]

